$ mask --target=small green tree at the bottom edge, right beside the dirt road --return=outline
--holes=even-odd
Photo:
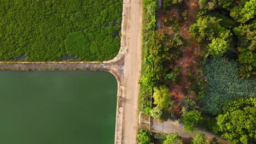
[[[137,132],[137,143],[138,144],[150,144],[151,133],[147,129],[141,129]]]

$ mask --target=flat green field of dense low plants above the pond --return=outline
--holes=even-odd
[[[106,61],[120,49],[122,0],[1,0],[0,61]]]

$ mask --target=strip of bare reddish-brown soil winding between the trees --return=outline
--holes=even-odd
[[[188,95],[190,97],[196,98],[195,93],[189,93],[189,87],[190,82],[188,80],[188,72],[187,69],[190,64],[194,65],[193,71],[194,73],[197,71],[197,64],[200,62],[200,59],[197,57],[198,53],[195,52],[195,48],[198,46],[197,41],[191,39],[191,34],[189,32],[189,27],[196,22],[196,15],[199,12],[199,5],[197,4],[196,0],[185,0],[184,1],[185,7],[188,10],[188,18],[187,21],[184,21],[181,23],[181,28],[178,33],[181,34],[184,41],[186,41],[185,46],[182,48],[183,55],[180,59],[178,59],[175,62],[175,65],[181,67],[181,76],[180,76],[180,82],[179,83],[171,83],[170,84],[170,91],[171,95],[174,96],[174,109],[175,113],[179,115],[181,111],[181,104],[184,99],[185,95]],[[174,14],[182,13],[181,10],[178,8],[171,8],[170,11],[162,10],[161,12],[161,21],[162,24],[165,18],[170,17]],[[161,29],[164,29],[165,33],[167,34],[173,34],[171,27],[165,27],[164,25],[161,25]],[[173,65],[170,65],[170,67],[173,68]]]

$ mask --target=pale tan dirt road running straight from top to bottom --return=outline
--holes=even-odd
[[[136,143],[138,80],[141,71],[142,1],[130,0],[127,53],[124,64],[124,113],[122,143]]]

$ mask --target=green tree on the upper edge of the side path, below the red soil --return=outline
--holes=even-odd
[[[182,115],[182,122],[184,123],[184,130],[193,133],[197,124],[201,121],[202,116],[199,111],[189,111]]]

